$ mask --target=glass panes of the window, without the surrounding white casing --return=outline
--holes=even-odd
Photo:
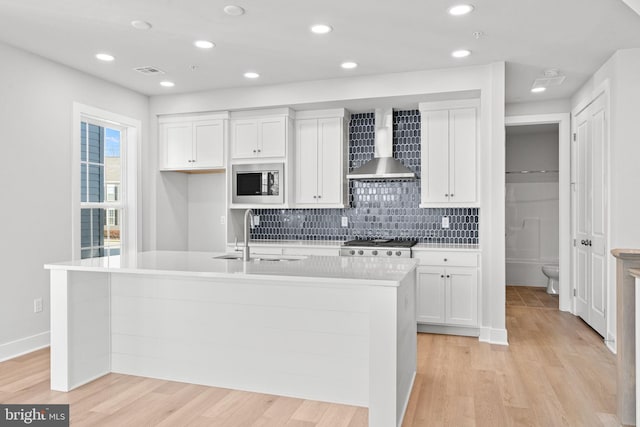
[[[80,123],[80,257],[119,255],[123,129]]]

